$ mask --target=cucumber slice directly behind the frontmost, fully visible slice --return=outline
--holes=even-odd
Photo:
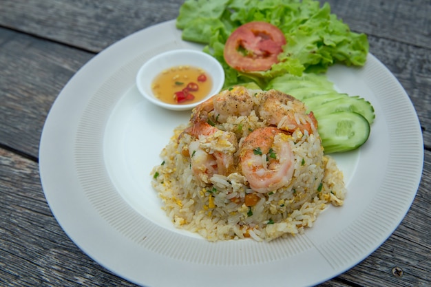
[[[370,125],[375,119],[374,107],[365,100],[359,98],[359,96],[346,96],[337,98],[336,100],[330,100],[322,105],[318,105],[313,109],[313,114],[319,120],[319,116],[326,114],[332,114],[337,111],[353,111],[357,114],[361,114],[368,120]]]

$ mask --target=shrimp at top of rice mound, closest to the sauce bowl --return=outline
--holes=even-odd
[[[226,122],[229,116],[247,116],[253,109],[253,98],[245,87],[235,86],[201,103],[191,114],[191,122],[207,121],[209,112],[214,111],[219,123]]]

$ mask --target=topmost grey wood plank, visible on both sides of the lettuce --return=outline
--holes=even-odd
[[[324,3],[324,0],[319,0]],[[0,25],[98,52],[149,25],[174,19],[184,1],[38,1],[3,0]],[[352,30],[430,47],[428,0],[330,0],[332,11]],[[366,21],[364,21],[366,19]],[[41,29],[43,28],[43,29]],[[397,31],[397,33],[393,33]]]

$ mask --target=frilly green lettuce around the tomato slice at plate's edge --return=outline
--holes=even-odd
[[[224,61],[223,50],[229,35],[244,23],[266,21],[276,25],[287,44],[270,70],[242,73]],[[326,72],[330,65],[364,65],[368,54],[365,34],[351,32],[330,6],[314,0],[187,0],[176,21],[182,39],[206,45],[204,51],[222,63],[224,87],[253,81],[262,89],[283,74]]]

